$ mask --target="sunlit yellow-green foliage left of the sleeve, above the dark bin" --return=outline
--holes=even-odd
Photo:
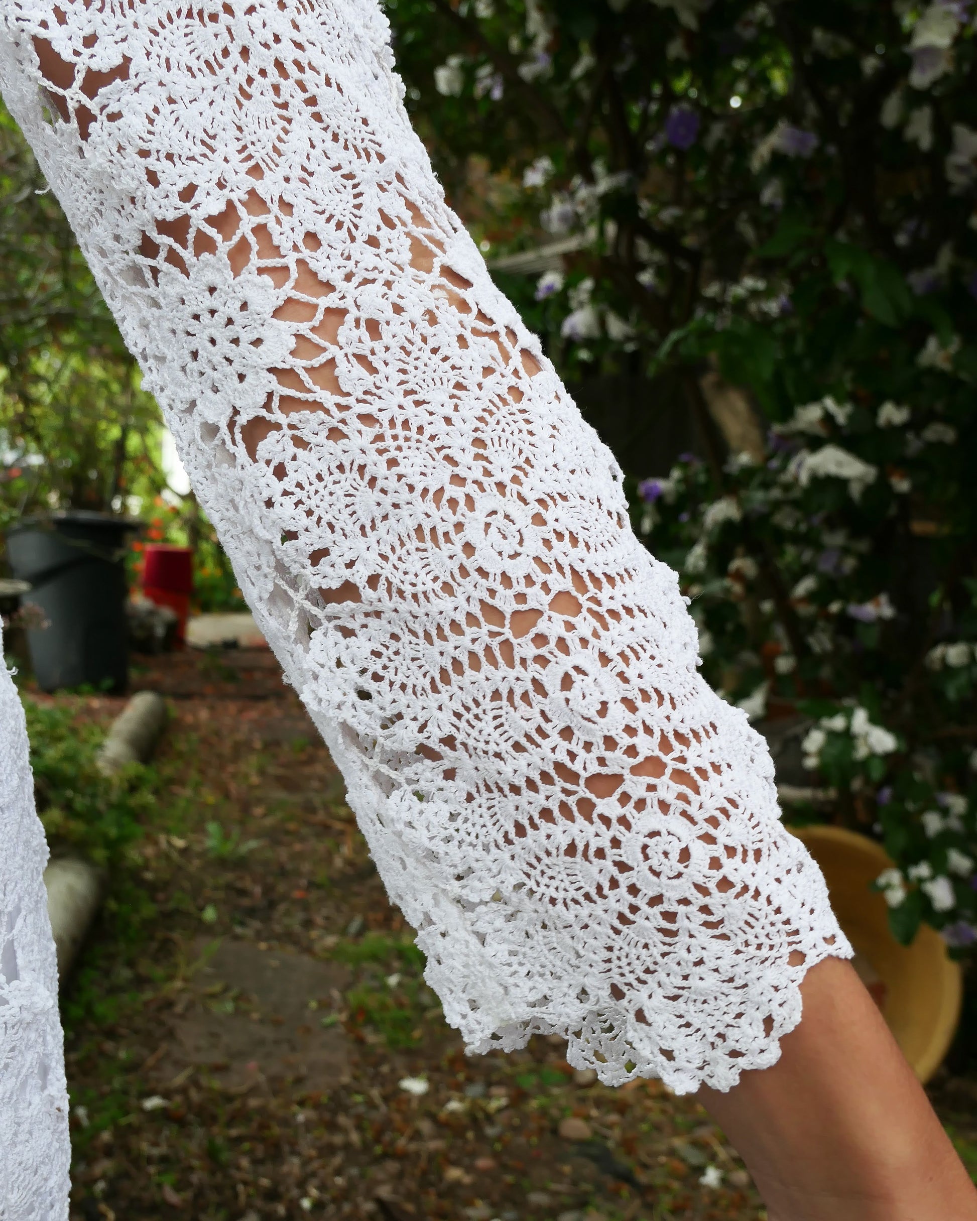
[[[67,221],[0,106],[0,529],[156,495],[161,421]]]

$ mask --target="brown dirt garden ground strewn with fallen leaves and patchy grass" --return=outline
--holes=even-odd
[[[661,1084],[606,1089],[556,1039],[465,1056],[267,651],[143,659],[133,686],[172,718],[154,824],[62,998],[72,1221],[766,1216]]]

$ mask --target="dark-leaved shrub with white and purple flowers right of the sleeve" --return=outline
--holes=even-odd
[[[569,377],[659,377],[700,457],[634,477],[708,680],[810,718],[893,928],[977,937],[977,72],[968,0],[387,0],[449,192]],[[491,258],[491,254],[490,254]],[[529,266],[529,264],[526,264]],[[667,375],[667,376],[666,376]],[[708,386],[739,394],[739,422]],[[728,396],[727,396],[728,397]],[[674,404],[668,404],[674,410]],[[735,421],[734,421],[735,422]],[[808,810],[808,814],[815,811]]]

